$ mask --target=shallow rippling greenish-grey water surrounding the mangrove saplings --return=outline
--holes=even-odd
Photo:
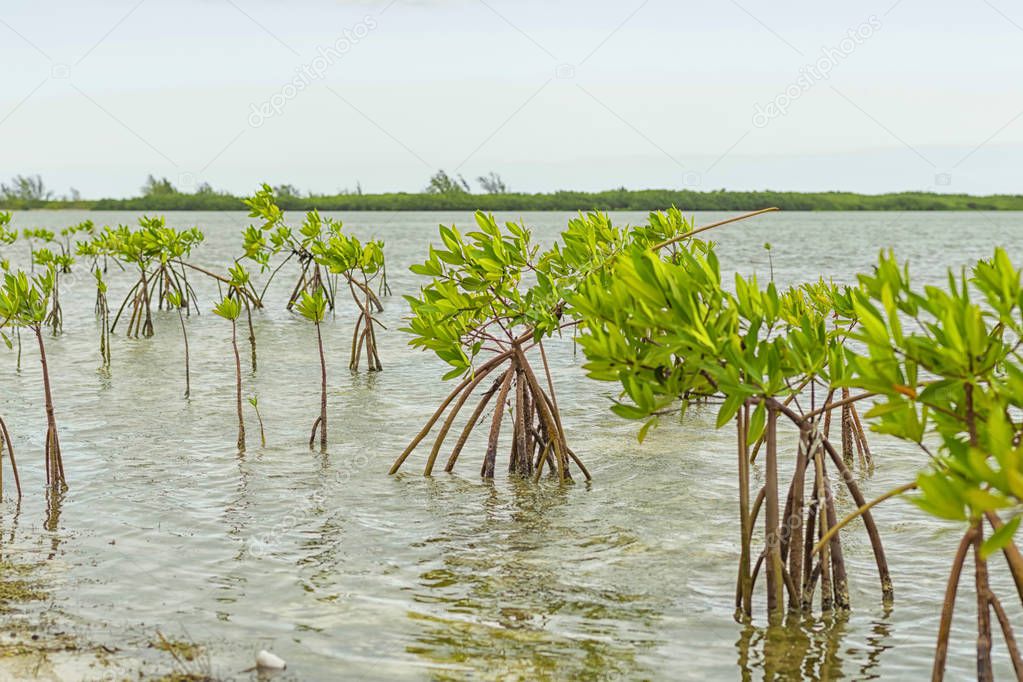
[[[502,216],[504,217],[504,216]],[[516,218],[517,216],[506,216]],[[524,214],[547,240],[567,214]],[[716,214],[698,215],[701,224]],[[132,214],[34,212],[18,227],[60,228]],[[192,395],[182,399],[177,317],[162,313],[148,340],[116,335],[109,374],[97,370],[94,290],[83,269],[62,288],[65,333],[48,339],[71,489],[47,509],[45,420],[38,358],[26,343],[0,354],[0,414],[15,441],[26,497],[0,507],[7,556],[42,560],[45,607],[73,632],[130,655],[149,655],[157,630],[204,644],[213,671],[246,678],[255,651],[288,662],[277,679],[819,677],[921,678],[930,670],[955,527],[893,501],[876,511],[895,578],[887,610],[865,535],[854,529],[846,560],[854,610],[766,632],[732,620],[738,545],[733,442],[713,412],[665,423],[640,446],[636,424],[607,409],[611,384],[586,379],[570,339],[551,345],[559,400],[591,484],[538,487],[478,476],[479,443],[456,473],[424,479],[426,452],[403,472],[387,469],[450,390],[440,361],[414,352],[397,329],[414,292],[407,266],[436,225],[466,214],[346,214],[350,229],[387,241],[391,285],[381,319],[385,371],[348,370],[354,308],[324,326],[329,351],[330,446],[307,447],[318,414],[315,337],[283,311],[291,282],[275,283],[256,320],[258,395],[268,445],[234,447],[229,326],[204,311],[188,321]],[[640,214],[620,214],[637,222]],[[168,215],[199,225],[192,261],[223,266],[240,251],[242,214]],[[776,214],[715,234],[724,269],[780,282],[819,274],[848,281],[881,248],[908,258],[918,282],[987,256],[995,244],[1019,261],[1020,214]],[[769,263],[763,243],[772,244]],[[5,255],[25,262],[24,244]],[[109,275],[112,305],[131,286]],[[285,290],[287,289],[287,290]],[[216,287],[199,286],[201,298]],[[28,337],[26,337],[28,342]],[[243,342],[243,336],[242,336]],[[248,357],[241,344],[242,360]],[[248,406],[247,406],[248,409]],[[873,437],[878,461],[861,478],[868,498],[913,478],[923,457]],[[759,475],[759,469],[755,475]],[[5,482],[8,492],[12,490]],[[841,498],[848,508],[849,500]],[[58,512],[58,514],[57,514]],[[998,559],[995,589],[1015,623],[1018,600]],[[949,679],[974,671],[974,601],[964,580]],[[1008,590],[1008,591],[1007,591]],[[31,607],[28,607],[31,608]],[[758,617],[762,608],[757,611]],[[1011,675],[995,638],[999,672]],[[91,672],[92,676],[99,673]]]

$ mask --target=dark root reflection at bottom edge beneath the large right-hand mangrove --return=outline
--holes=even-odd
[[[834,611],[825,617],[790,617],[785,625],[766,628],[747,624],[736,642],[742,679],[878,679],[881,654],[891,647],[887,615],[874,622],[862,648],[843,646],[848,621],[848,612]],[[851,662],[858,663],[855,672],[844,666]]]

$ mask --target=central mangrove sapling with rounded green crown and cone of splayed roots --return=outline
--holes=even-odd
[[[413,334],[409,344],[433,351],[451,365],[445,379],[462,376],[462,380],[401,453],[391,473],[401,467],[447,412],[424,469],[430,475],[462,407],[490,377],[493,384],[479,398],[445,470],[453,470],[470,434],[496,395],[480,469],[484,479],[493,478],[496,469],[507,403],[511,403],[513,426],[509,471],[538,480],[546,466],[551,475],[566,482],[572,479],[569,469],[574,463],[589,479],[585,466],[568,447],[546,355],[541,353],[546,387],[537,378],[527,355],[539,347],[542,337],[561,330],[564,304],[559,286],[569,277],[548,274],[558,260],[538,258],[539,247],[523,226],[509,223],[505,232],[492,216],[482,213],[476,215],[476,222],[479,231],[464,236],[454,228],[441,226],[445,248],[432,246],[429,260],[412,266],[412,272],[431,277],[432,281],[418,297],[407,297],[412,309],[412,318],[404,329]],[[531,274],[527,277],[527,273]],[[535,283],[530,285],[534,278]],[[488,354],[489,359],[479,361],[481,353]]]

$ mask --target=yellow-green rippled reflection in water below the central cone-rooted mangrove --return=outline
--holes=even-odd
[[[551,520],[572,492],[491,483],[482,514],[426,541],[443,560],[419,575],[417,608],[408,612],[418,632],[406,651],[427,661],[435,679],[484,671],[529,680],[650,675],[636,654],[655,642],[619,627],[658,618],[648,597],[590,588],[574,571],[578,557],[545,554],[545,539],[577,533]]]

